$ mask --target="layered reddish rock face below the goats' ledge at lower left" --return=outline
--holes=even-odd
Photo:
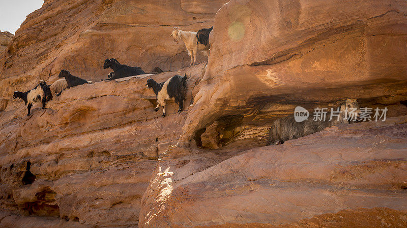
[[[177,143],[205,65],[69,88],[47,109],[34,106],[30,117],[22,101],[15,111],[3,112],[1,207],[59,217],[64,220],[59,225],[137,225],[157,159]],[[177,73],[188,75],[185,110],[179,114],[178,105],[168,102],[167,117],[161,118],[145,84],[150,77],[163,82]],[[28,161],[36,179],[23,185]]]

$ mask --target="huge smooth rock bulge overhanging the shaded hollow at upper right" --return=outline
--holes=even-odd
[[[208,70],[180,143],[228,115],[276,118],[344,98],[362,106],[407,100],[406,13],[398,1],[230,1],[216,14]]]

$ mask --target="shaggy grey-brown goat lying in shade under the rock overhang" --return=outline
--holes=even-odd
[[[347,99],[340,102],[337,107],[334,108],[334,111],[337,111],[337,108],[341,111],[340,114],[338,114],[339,117],[333,116],[331,121],[329,121],[330,117],[328,117],[328,115],[325,121],[314,121],[312,118],[309,118],[303,122],[297,122],[294,115],[276,120],[270,130],[270,139],[267,145],[282,144],[287,140],[297,139],[322,131],[326,127],[349,123],[348,120],[350,118],[358,118],[359,116],[360,109],[356,99]],[[312,115],[310,115],[310,117],[311,116]],[[347,117],[347,119],[345,117]]]

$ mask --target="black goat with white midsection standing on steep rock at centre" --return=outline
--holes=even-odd
[[[187,92],[186,82],[187,74],[184,77],[175,75],[162,83],[157,83],[153,79],[147,80],[146,86],[152,88],[157,96],[157,107],[154,111],[158,111],[160,106],[162,106],[163,112],[161,117],[165,117],[165,100],[174,100],[180,105],[178,112],[181,112]]]

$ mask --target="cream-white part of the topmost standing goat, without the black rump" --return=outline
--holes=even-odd
[[[203,51],[206,56],[209,56],[210,45],[197,44],[198,39],[196,38],[196,32],[194,31],[183,31],[175,27],[172,30],[171,35],[174,42],[178,44],[178,41],[182,39],[187,48],[188,55],[191,56],[191,65],[196,63],[196,52]]]

